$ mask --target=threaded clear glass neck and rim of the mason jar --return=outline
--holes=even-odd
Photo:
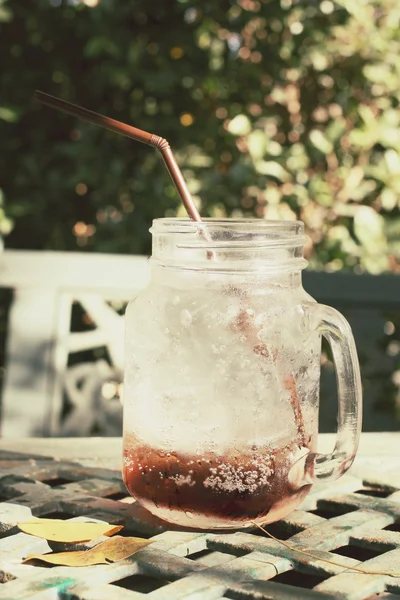
[[[296,272],[307,266],[301,221],[155,219],[152,261],[190,270]]]

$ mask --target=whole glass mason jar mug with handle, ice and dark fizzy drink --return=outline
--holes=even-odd
[[[151,281],[126,314],[125,484],[178,525],[276,521],[354,459],[350,327],[302,287],[301,222],[156,219],[151,231]],[[339,396],[329,455],[317,451],[321,335]]]

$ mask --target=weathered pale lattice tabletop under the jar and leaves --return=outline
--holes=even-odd
[[[319,559],[292,552],[259,530],[211,533],[167,528],[127,497],[119,471],[99,465],[0,450],[0,500],[2,599],[400,600],[400,577],[349,570],[359,565],[400,571],[398,465],[384,470],[376,461],[334,485],[315,486],[301,510],[268,527]],[[151,538],[154,543],[108,565],[22,564],[29,553],[66,549],[19,532],[16,522],[31,515],[122,524],[124,535]],[[343,567],[322,560],[326,558]]]

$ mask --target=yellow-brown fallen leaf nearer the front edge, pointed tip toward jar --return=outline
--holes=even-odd
[[[151,540],[116,535],[90,550],[29,554],[23,562],[27,562],[28,560],[42,560],[52,565],[65,567],[89,567],[91,565],[101,565],[123,560],[152,543]]]

